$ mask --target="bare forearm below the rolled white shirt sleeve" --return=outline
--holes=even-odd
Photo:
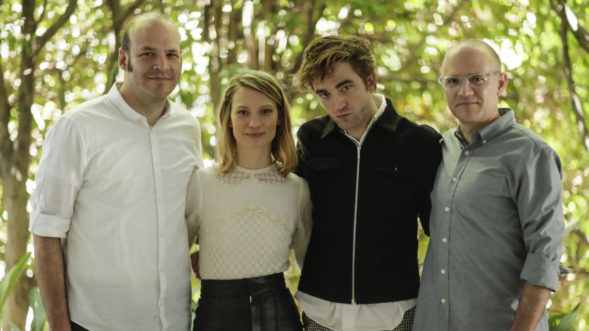
[[[70,331],[70,314],[65,294],[64,260],[60,239],[33,235],[35,275],[47,313],[49,330]]]

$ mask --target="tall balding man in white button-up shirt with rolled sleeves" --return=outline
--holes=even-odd
[[[135,17],[123,83],[49,132],[31,196],[35,269],[49,329],[190,330],[186,186],[201,167],[198,121],[167,99],[180,34]]]

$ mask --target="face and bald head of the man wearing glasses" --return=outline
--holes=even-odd
[[[499,117],[497,102],[507,84],[507,75],[489,75],[487,84],[481,88],[472,87],[466,79],[468,75],[499,70],[491,55],[475,48],[462,47],[446,57],[442,75],[464,78],[458,88],[444,91],[448,108],[461,127],[480,129]]]

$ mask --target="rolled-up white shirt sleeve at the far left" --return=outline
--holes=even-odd
[[[65,238],[74,202],[84,180],[85,146],[71,118],[61,118],[43,143],[43,154],[31,195],[29,231],[38,236]]]

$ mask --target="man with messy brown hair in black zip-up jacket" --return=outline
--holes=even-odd
[[[313,202],[296,294],[305,329],[411,330],[417,219],[428,233],[441,136],[373,94],[375,55],[365,39],[316,39],[294,83],[315,92],[327,112],[297,133],[296,173]]]

